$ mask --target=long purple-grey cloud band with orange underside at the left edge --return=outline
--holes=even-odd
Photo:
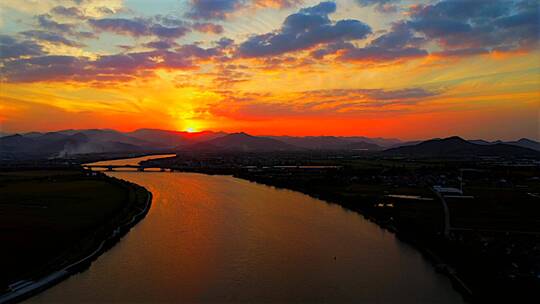
[[[10,37],[0,37],[0,42],[7,42],[10,45],[16,43]],[[197,45],[184,45],[169,50],[174,45],[160,44],[160,41],[151,46],[155,50],[104,55],[95,60],[87,57],[53,55],[18,58],[28,55],[28,52],[19,51],[15,55],[13,52],[6,52],[6,55],[10,56],[6,58],[11,59],[2,61],[0,77],[7,82],[129,81],[137,77],[152,76],[156,69],[196,69],[199,61],[211,59],[221,61],[223,55],[219,46],[204,49]]]

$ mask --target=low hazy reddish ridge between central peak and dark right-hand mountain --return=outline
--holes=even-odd
[[[309,150],[371,150],[378,151],[382,148],[376,144],[358,140],[354,137],[336,136],[268,136],[286,144]]]

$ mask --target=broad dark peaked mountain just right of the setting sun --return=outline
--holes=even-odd
[[[300,150],[298,147],[286,144],[273,138],[252,136],[243,132],[232,133],[223,137],[204,141],[187,147],[187,149],[227,152],[271,152]]]

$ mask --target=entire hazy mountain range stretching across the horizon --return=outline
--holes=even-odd
[[[62,158],[91,153],[157,153],[178,151],[277,152],[369,151],[387,156],[463,157],[470,155],[537,156],[540,143],[464,140],[459,137],[423,142],[362,136],[253,136],[246,133],[110,129],[30,132],[0,137],[0,159]]]

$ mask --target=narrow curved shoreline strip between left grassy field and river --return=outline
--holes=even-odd
[[[120,182],[124,186],[130,187],[134,191],[143,189],[146,194],[146,199],[142,209],[137,208],[139,206],[137,204],[137,201],[135,200],[133,202],[133,206],[130,206],[130,211],[133,211],[133,209],[137,208],[139,212],[137,212],[133,216],[128,216],[129,214],[119,215],[122,216],[122,218],[119,219],[119,224],[116,225],[114,228],[109,229],[106,232],[106,237],[103,240],[94,240],[94,242],[98,242],[98,244],[96,244],[96,246],[92,246],[95,249],[91,253],[85,255],[77,261],[70,263],[62,269],[55,270],[48,275],[42,276],[39,279],[21,280],[13,283],[12,285],[16,284],[17,286],[14,290],[0,295],[0,304],[22,301],[42,291],[45,291],[46,289],[60,283],[61,281],[69,278],[74,274],[83,272],[84,270],[88,269],[93,261],[95,261],[99,256],[101,256],[108,249],[112,248],[116,243],[118,243],[121,238],[131,230],[131,228],[133,228],[146,216],[152,205],[153,196],[150,191],[134,183],[116,179],[110,176],[107,176],[107,178],[112,179],[112,181],[114,182]]]

